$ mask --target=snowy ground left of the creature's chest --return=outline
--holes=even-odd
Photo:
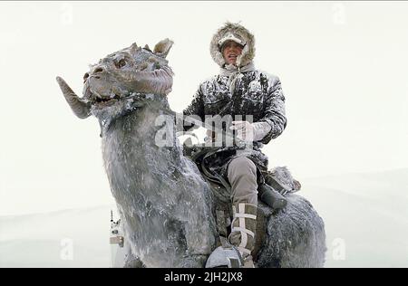
[[[0,267],[110,267],[112,206],[0,218]]]

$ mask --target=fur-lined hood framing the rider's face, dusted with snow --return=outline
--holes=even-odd
[[[226,33],[233,33],[246,42],[242,54],[238,56],[237,66],[243,67],[252,62],[255,57],[255,38],[252,33],[240,24],[227,22],[224,26],[219,28],[219,31],[212,37],[209,52],[211,53],[214,62],[217,62],[220,67],[224,67],[225,61],[222,53],[219,51],[219,40],[222,39]]]

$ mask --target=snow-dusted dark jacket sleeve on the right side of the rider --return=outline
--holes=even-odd
[[[264,116],[259,121],[267,122],[271,127],[267,135],[260,140],[263,144],[267,144],[271,139],[277,138],[287,127],[285,96],[282,91],[281,82],[276,76],[268,81]]]

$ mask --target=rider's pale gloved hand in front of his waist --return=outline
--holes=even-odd
[[[262,140],[271,129],[267,122],[232,121],[231,123],[232,126],[229,129],[236,130],[237,138],[246,142]]]

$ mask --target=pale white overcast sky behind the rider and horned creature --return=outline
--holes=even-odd
[[[218,72],[212,34],[241,21],[257,68],[276,74],[288,125],[270,167],[328,176],[408,167],[407,2],[0,2],[0,215],[112,203],[96,119],[76,119],[54,80],[136,42],[169,37],[181,111]]]

